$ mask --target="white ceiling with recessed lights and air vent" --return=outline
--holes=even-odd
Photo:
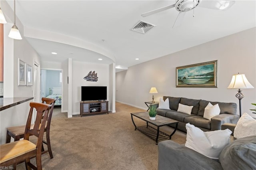
[[[110,64],[114,60],[120,68],[256,26],[255,0],[236,0],[226,11],[200,8],[199,4],[194,9],[195,16],[193,10],[187,12],[182,25],[176,28],[172,28],[178,15],[175,8],[141,16],[174,3],[175,0],[16,0],[16,16],[24,25],[25,38],[42,61],[72,57],[75,61]],[[13,8],[12,0],[8,4]],[[139,20],[156,27],[146,34],[131,31]],[[58,54],[52,55],[53,51]]]

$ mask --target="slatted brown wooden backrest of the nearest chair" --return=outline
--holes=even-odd
[[[41,149],[42,149],[44,127],[46,124],[46,120],[47,120],[50,108],[51,108],[51,105],[48,105],[48,104],[30,102],[30,111],[28,113],[28,119],[27,119],[27,123],[26,123],[24,139],[29,140],[29,136],[31,136],[31,135],[38,137],[37,144],[36,144],[36,147],[38,149],[36,152],[41,152]],[[33,109],[36,109],[36,121],[35,121],[34,127],[32,129],[30,129]]]

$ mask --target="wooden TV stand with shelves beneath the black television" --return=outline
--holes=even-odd
[[[108,101],[80,101],[80,115],[108,113]]]

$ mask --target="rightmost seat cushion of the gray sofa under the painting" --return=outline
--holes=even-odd
[[[211,121],[202,116],[185,117],[184,122],[195,125],[196,127],[211,129]]]

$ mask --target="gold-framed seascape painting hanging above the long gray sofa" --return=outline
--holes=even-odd
[[[176,67],[176,87],[217,87],[217,60]]]

